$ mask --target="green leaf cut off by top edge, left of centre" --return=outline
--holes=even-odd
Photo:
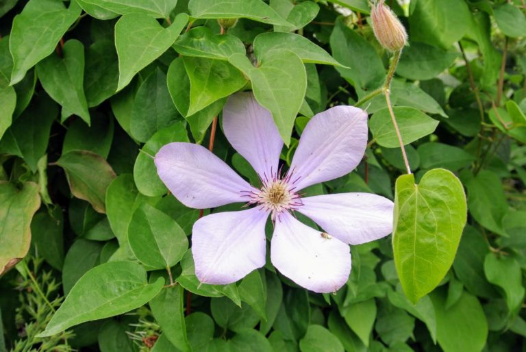
[[[82,0],[79,4],[90,15],[110,19],[114,14],[146,14],[153,18],[166,18],[177,5],[177,0]],[[97,11],[98,10],[98,11]],[[106,16],[97,16],[101,11]],[[109,17],[108,17],[109,16]]]

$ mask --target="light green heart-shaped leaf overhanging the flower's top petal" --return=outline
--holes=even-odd
[[[258,68],[245,55],[232,55],[229,62],[249,77],[255,99],[272,113],[288,145],[307,89],[307,73],[299,56],[290,50],[275,49],[264,55]]]

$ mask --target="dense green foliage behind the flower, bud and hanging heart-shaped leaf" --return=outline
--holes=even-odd
[[[166,195],[149,155],[167,142],[208,145],[225,97],[251,86],[260,102],[289,92],[271,109],[290,138],[288,163],[308,118],[380,86],[390,58],[366,1],[233,3],[0,3],[0,351],[526,351],[525,2],[388,1],[410,35],[392,101],[416,180],[447,168],[468,194],[453,267],[416,305],[391,236],[351,249],[351,276],[334,295],[271,265],[198,286],[186,236],[199,211]],[[245,18],[225,39],[216,18],[227,17]],[[273,32],[303,38],[258,37]],[[394,197],[404,166],[379,98],[366,105],[371,143],[358,170],[308,194]],[[221,123],[213,147],[257,184]],[[163,258],[145,247],[148,221],[174,236],[163,244],[178,253],[166,263],[175,286],[151,270]],[[93,290],[121,295],[82,320],[104,303]],[[36,338],[69,292],[62,312],[73,323],[55,331],[67,332]]]

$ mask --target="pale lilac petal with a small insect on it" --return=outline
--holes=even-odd
[[[349,245],[323,238],[288,212],[276,221],[271,260],[281,274],[314,292],[338,290],[351,272]]]

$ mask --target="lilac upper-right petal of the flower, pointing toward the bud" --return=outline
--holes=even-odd
[[[297,190],[336,179],[360,163],[367,145],[367,114],[335,106],[316,114],[301,134],[290,171]]]

